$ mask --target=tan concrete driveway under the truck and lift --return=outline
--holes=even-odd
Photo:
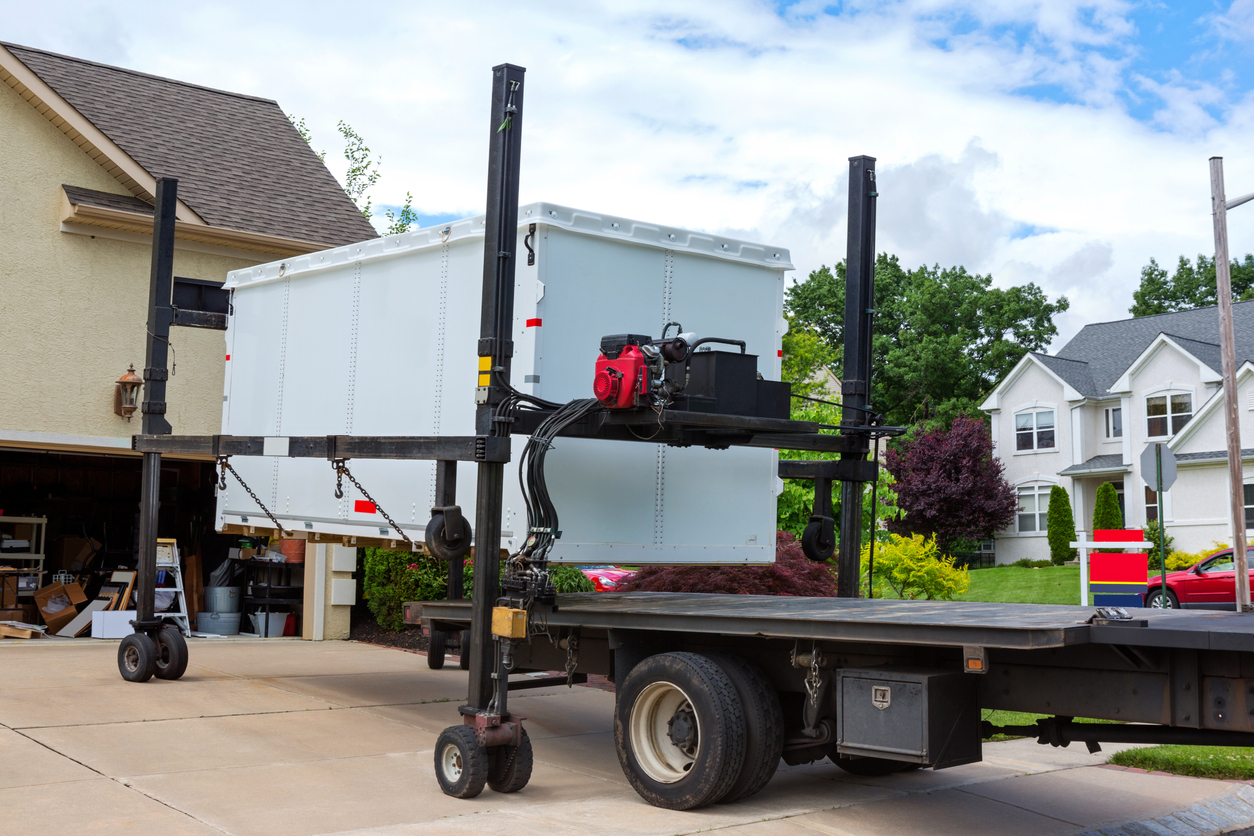
[[[1135,821],[1144,830],[1104,832],[1199,833],[1236,827],[1203,812],[1244,815],[1238,792],[1254,803],[1244,785],[1095,768],[1105,756],[1082,747],[1009,741],[978,765],[887,778],[785,766],[745,802],[657,810],[619,771],[613,694],[589,687],[512,697],[535,750],[530,785],[458,801],[431,766],[465,696],[455,664],[429,671],[423,656],[349,642],[193,639],[182,681],[133,684],[115,658],[115,642],[0,642],[4,836],[1031,836]],[[1170,813],[1209,830],[1149,826]]]

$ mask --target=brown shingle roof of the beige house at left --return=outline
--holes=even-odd
[[[331,246],[377,233],[270,99],[4,44],[206,223]]]

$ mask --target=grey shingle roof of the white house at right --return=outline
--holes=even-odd
[[[1240,366],[1254,360],[1254,301],[1233,305],[1233,331],[1236,337],[1236,365]],[[1167,335],[1198,360],[1220,371],[1218,307],[1086,325],[1055,358],[1086,363],[1092,377],[1092,391],[1076,386],[1058,368],[1050,368],[1082,395],[1104,396],[1160,333]]]

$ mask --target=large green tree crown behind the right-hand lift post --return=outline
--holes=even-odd
[[[908,271],[897,256],[875,259],[872,405],[889,424],[912,424],[927,411],[947,422],[974,412],[1025,353],[1043,350],[1057,335],[1053,318],[1067,310],[1066,297],[1051,302],[1033,283],[1003,288],[992,281],[963,267]],[[794,326],[826,343],[839,377],[844,262],[789,288],[785,311]]]

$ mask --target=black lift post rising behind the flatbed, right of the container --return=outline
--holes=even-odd
[[[845,357],[840,382],[843,435],[858,440],[858,451],[841,462],[861,462],[870,449],[872,307],[875,298],[875,158],[849,158],[849,242],[845,251]],[[878,462],[877,462],[878,464]],[[854,465],[855,466],[855,465]],[[874,469],[873,469],[874,471]],[[873,476],[874,478],[874,476]],[[818,484],[815,485],[818,488]],[[858,598],[861,574],[861,500],[865,483],[840,483],[840,551],[836,595]],[[815,496],[818,506],[819,498]]]

